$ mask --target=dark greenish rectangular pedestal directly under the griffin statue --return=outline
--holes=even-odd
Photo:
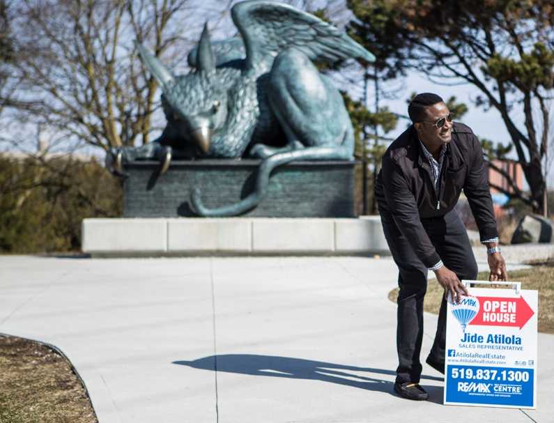
[[[261,160],[174,161],[158,177],[157,162],[125,169],[123,217],[197,217],[190,194],[201,190],[208,208],[238,202],[252,192]],[[292,162],[273,171],[268,194],[249,217],[355,217],[359,162]]]

